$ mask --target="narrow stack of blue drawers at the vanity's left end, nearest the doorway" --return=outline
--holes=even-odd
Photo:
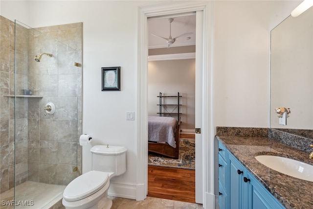
[[[224,145],[219,142],[219,206],[228,209],[227,180],[228,180],[228,153]]]

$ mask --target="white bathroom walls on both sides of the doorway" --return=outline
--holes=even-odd
[[[137,8],[156,2],[28,1],[27,20],[20,19],[27,8],[23,1],[15,9],[1,1],[2,16],[32,27],[83,22],[83,132],[93,143],[127,147],[127,172],[115,182],[130,187],[130,198],[136,185],[136,127],[125,118],[136,109]],[[297,4],[215,2],[214,126],[268,127],[269,30]],[[121,92],[101,92],[101,67],[114,66],[121,66]],[[87,171],[88,147],[83,158]]]

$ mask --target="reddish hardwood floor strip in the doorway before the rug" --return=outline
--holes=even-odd
[[[195,170],[148,165],[148,196],[195,203]]]

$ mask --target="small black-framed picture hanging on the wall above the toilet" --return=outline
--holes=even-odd
[[[121,67],[101,68],[101,91],[121,91]]]

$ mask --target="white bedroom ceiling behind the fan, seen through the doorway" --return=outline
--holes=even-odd
[[[158,36],[169,38],[170,23],[169,18],[173,18],[172,22],[172,38],[181,34],[192,32],[192,35],[180,37],[171,47],[196,45],[196,15],[187,14],[179,16],[167,16],[148,19],[148,45],[149,48],[167,48],[165,39],[151,35],[154,33]],[[190,37],[187,40],[187,37]]]

